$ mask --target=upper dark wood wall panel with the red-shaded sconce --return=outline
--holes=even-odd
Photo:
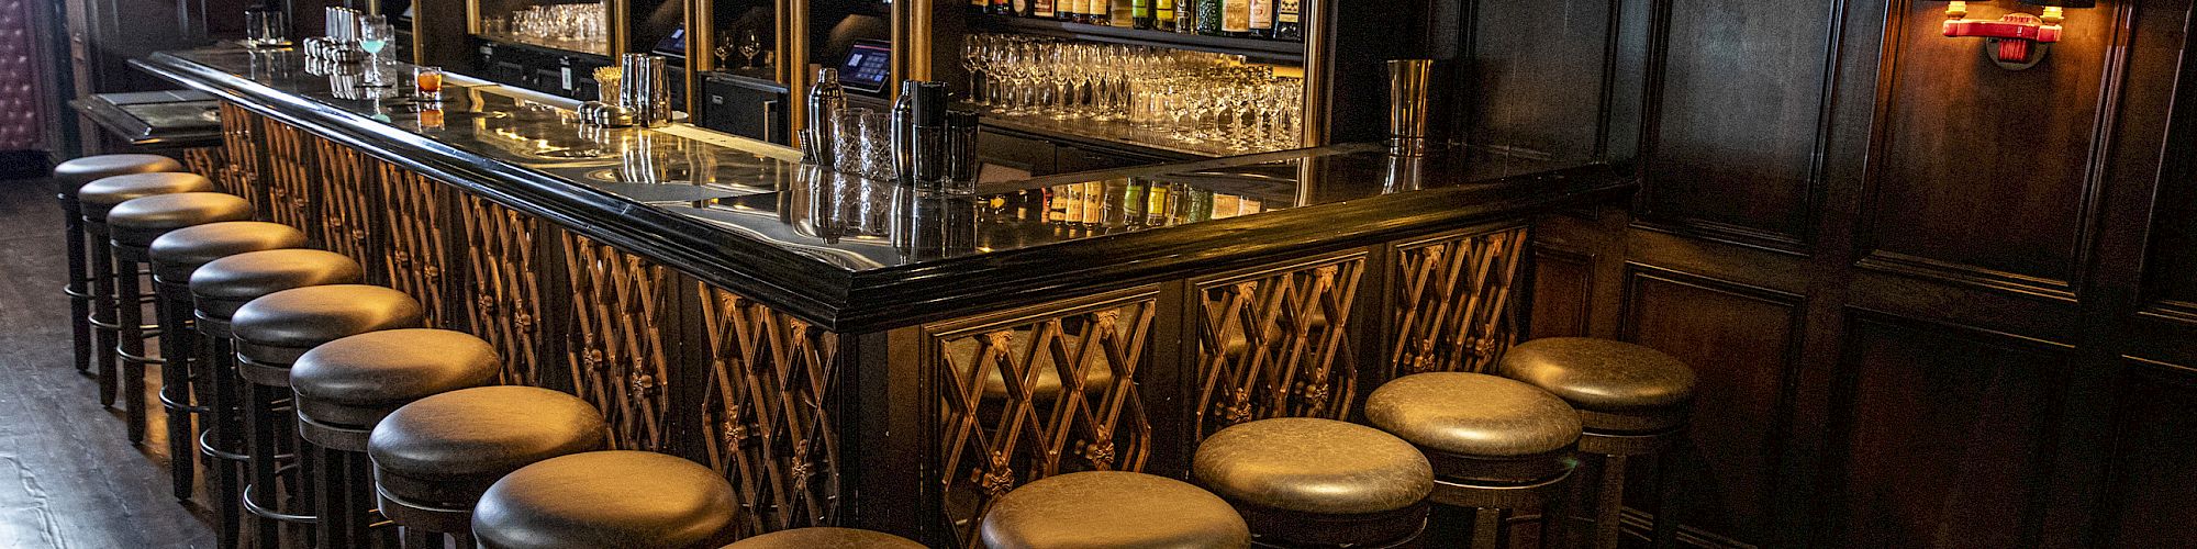
[[[1999,18],[2012,2],[1973,2]],[[2067,290],[2096,191],[2111,7],[2072,11],[2030,70],[1938,33],[1944,4],[1909,2],[1878,81],[1878,163],[1867,198],[1872,259],[1958,283]],[[1975,277],[1975,279],[1969,279]]]

